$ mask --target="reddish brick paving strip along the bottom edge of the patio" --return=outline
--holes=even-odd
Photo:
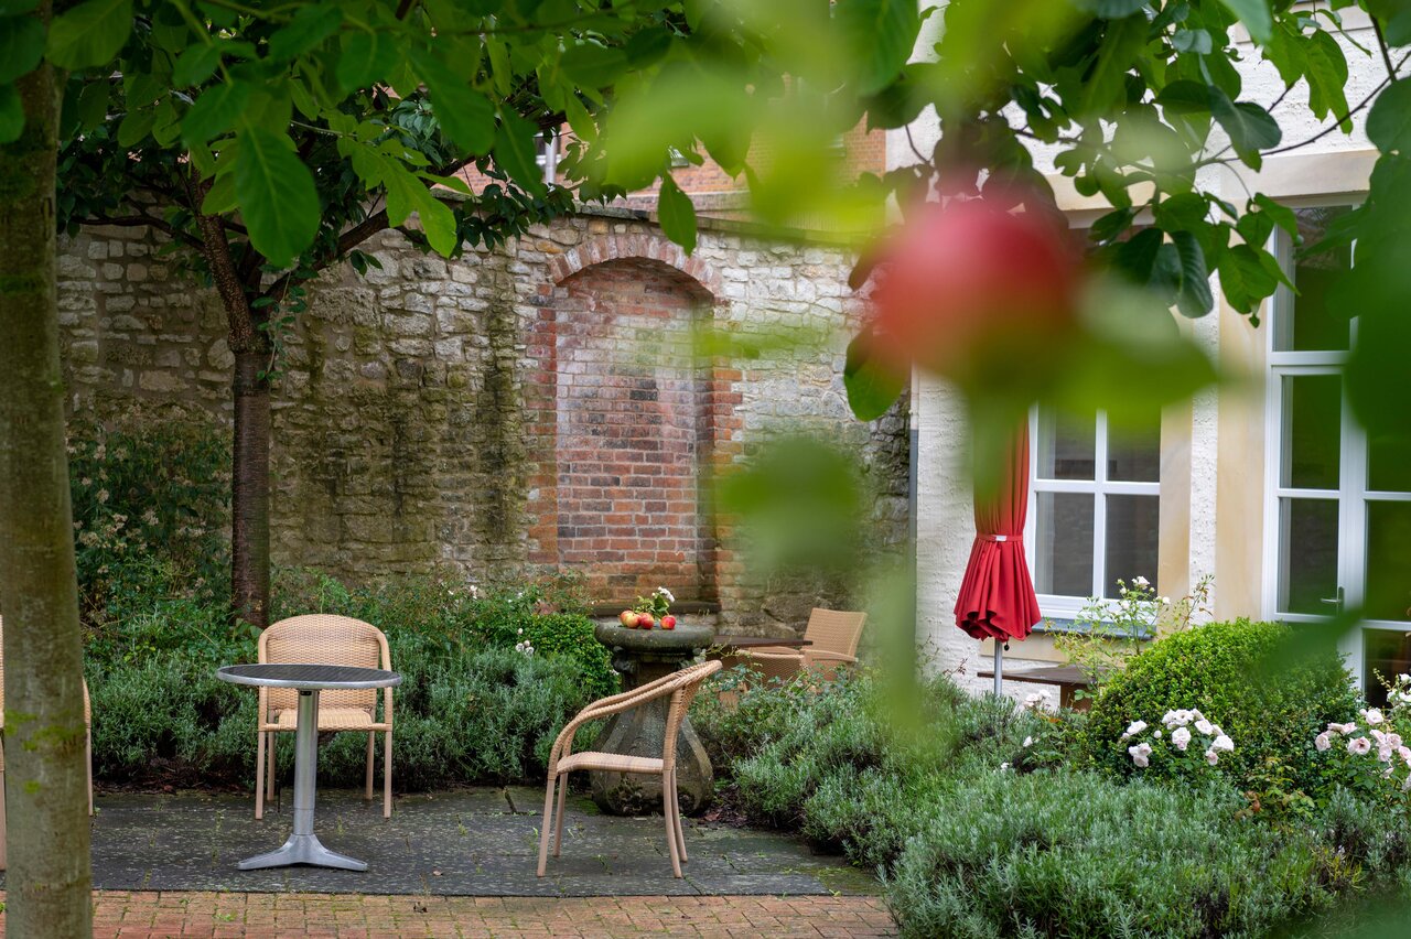
[[[0,935],[4,916],[0,915]],[[99,891],[93,935],[895,936],[878,897],[415,897]]]

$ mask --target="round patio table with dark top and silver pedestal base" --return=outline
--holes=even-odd
[[[402,677],[382,668],[275,663],[223,665],[216,670],[216,677],[236,685],[295,688],[299,692],[299,723],[293,744],[293,832],[284,847],[247,857],[240,861],[240,870],[288,864],[367,870],[367,861],[330,852],[313,833],[313,790],[319,766],[319,692],[395,688],[402,684]]]

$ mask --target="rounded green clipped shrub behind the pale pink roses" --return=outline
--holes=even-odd
[[[1174,633],[1134,656],[1098,695],[1086,728],[1092,760],[1122,775],[1163,778],[1170,763],[1133,766],[1122,733],[1134,720],[1157,725],[1171,709],[1201,709],[1235,742],[1221,771],[1245,784],[1270,757],[1309,792],[1325,787],[1314,737],[1331,720],[1356,716],[1357,696],[1342,660],[1308,633],[1278,623],[1233,620]]]

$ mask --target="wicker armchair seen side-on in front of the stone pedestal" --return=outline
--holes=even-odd
[[[662,814],[666,816],[666,843],[672,853],[672,873],[682,876],[686,859],[686,832],[682,828],[682,806],[676,799],[676,732],[686,719],[691,699],[700,691],[701,682],[720,671],[718,661],[707,661],[672,673],[648,682],[641,688],[624,691],[611,698],[594,701],[567,723],[549,753],[549,784],[543,797],[543,828],[539,832],[539,876],[543,877],[549,864],[549,826],[553,825],[553,856],[559,856],[563,845],[563,801],[569,791],[569,773],[574,770],[608,770],[612,773],[641,773],[662,777]],[[662,757],[635,757],[621,753],[573,751],[573,735],[588,720],[597,720],[621,711],[638,708],[649,701],[670,695],[666,712],[666,730],[662,740]],[[559,805],[555,811],[555,790]]]

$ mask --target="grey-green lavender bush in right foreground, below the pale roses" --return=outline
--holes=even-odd
[[[888,883],[914,936],[1257,936],[1319,908],[1309,837],[1229,790],[981,773],[928,806]]]

